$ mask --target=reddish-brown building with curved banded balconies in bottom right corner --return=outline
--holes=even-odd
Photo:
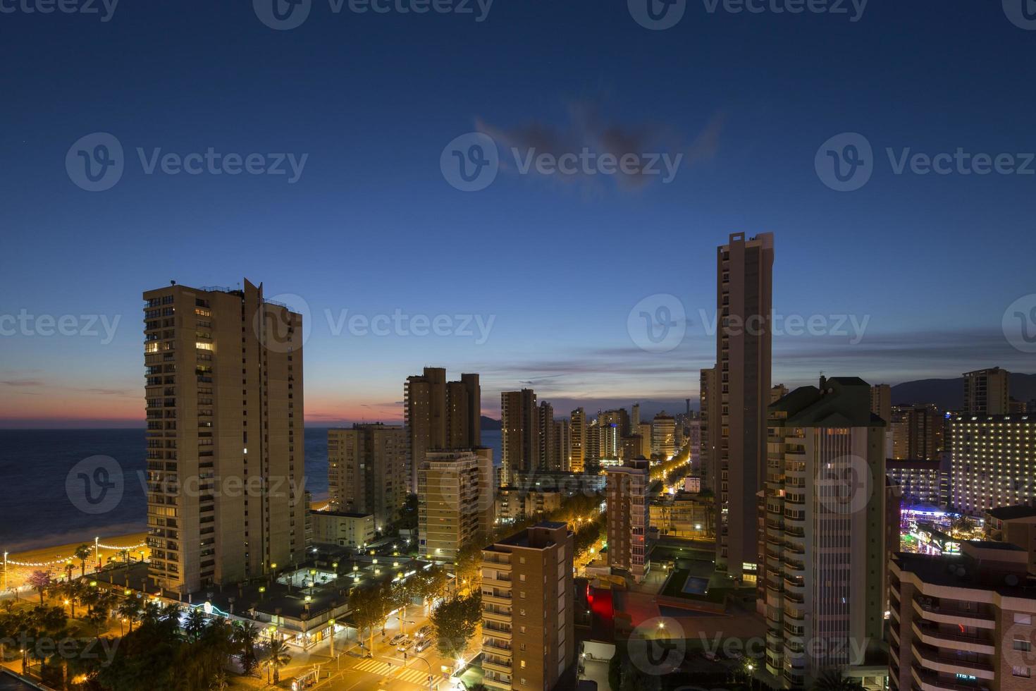
[[[1027,552],[965,542],[960,554],[896,554],[890,565],[889,688],[1033,688],[1036,583]]]

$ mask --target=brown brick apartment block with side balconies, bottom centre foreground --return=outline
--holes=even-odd
[[[557,687],[575,662],[575,535],[542,522],[482,550],[483,684]]]

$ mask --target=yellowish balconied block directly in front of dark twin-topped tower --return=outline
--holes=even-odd
[[[492,529],[493,452],[430,451],[418,469],[418,549],[451,563],[480,532]]]

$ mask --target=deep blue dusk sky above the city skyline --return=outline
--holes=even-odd
[[[1036,30],[999,2],[875,1],[853,22],[698,0],[664,31],[626,2],[591,0],[496,0],[483,22],[313,0],[286,31],[250,2],[122,0],[108,22],[9,3],[0,314],[120,322],[111,343],[3,336],[8,424],[142,416],[140,293],[170,279],[248,277],[300,296],[315,421],[398,415],[403,377],[425,365],[482,372],[487,412],[520,382],[563,408],[683,399],[714,358],[698,311],[714,306],[715,247],[742,231],[775,233],[776,312],[868,319],[862,339],[779,336],[775,381],[1034,369],[1001,322],[1036,292],[1036,175],[897,175],[886,154],[1036,150]],[[502,164],[488,189],[463,193],[439,156],[472,131],[493,137]],[[125,170],[91,193],[65,156],[98,132],[121,143]],[[873,149],[855,192],[829,189],[814,167],[841,133]],[[522,175],[509,152],[585,142],[685,159],[669,183],[624,182]],[[308,159],[294,183],[147,175],[138,147]],[[679,297],[691,320],[664,353],[627,328],[656,294]],[[495,320],[485,343],[336,336],[346,309]]]

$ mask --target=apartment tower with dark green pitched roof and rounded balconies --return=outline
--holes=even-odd
[[[854,647],[883,635],[885,421],[858,377],[821,377],[770,414],[767,670],[813,688],[825,669],[862,665]]]

